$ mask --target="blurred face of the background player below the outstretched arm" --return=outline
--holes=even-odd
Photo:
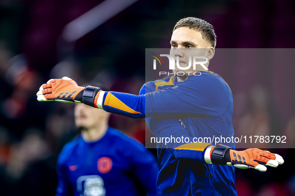
[[[98,127],[100,123],[107,124],[110,115],[110,113],[103,109],[91,107],[83,103],[76,103],[74,114],[75,125],[82,130]]]

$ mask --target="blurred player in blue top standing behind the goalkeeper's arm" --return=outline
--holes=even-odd
[[[110,113],[76,104],[81,136],[67,143],[57,161],[56,196],[156,196],[159,172],[144,146],[108,126]]]

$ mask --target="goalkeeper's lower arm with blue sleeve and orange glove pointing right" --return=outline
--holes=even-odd
[[[179,159],[190,159],[207,164],[235,166],[240,169],[254,168],[265,172],[267,167],[277,167],[284,163],[284,159],[278,155],[257,148],[244,151],[233,150],[228,146],[211,143],[194,142],[186,129],[176,119],[165,119],[153,123],[151,128],[155,137],[187,137],[187,143],[168,142],[163,145]]]

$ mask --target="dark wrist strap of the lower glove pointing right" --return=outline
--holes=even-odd
[[[211,161],[214,165],[226,165],[231,162],[230,147],[218,144],[212,151]]]

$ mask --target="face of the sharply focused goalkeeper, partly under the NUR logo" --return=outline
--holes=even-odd
[[[195,71],[205,71],[201,65],[196,65],[196,69],[193,68],[193,56],[205,56],[209,60],[214,56],[214,48],[210,42],[202,36],[199,31],[190,29],[188,27],[180,27],[176,29],[171,37],[171,50],[172,55],[177,61],[179,58],[180,67],[188,67],[191,58],[191,67],[188,70],[181,70],[175,65],[175,72],[191,72],[192,75]],[[196,59],[196,61],[202,62],[204,59]],[[205,64],[208,67],[208,64]],[[186,77],[189,73],[186,73]]]

